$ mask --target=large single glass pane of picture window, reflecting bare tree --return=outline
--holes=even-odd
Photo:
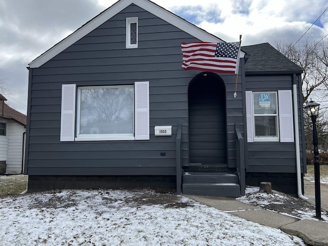
[[[133,134],[131,87],[81,88],[79,134]]]

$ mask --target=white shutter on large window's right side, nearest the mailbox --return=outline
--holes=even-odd
[[[135,82],[135,140],[149,140],[149,81]]]

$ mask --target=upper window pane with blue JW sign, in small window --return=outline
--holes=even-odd
[[[254,114],[276,114],[276,93],[254,93]]]

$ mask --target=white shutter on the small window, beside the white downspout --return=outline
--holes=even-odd
[[[292,91],[278,91],[280,142],[294,142]]]

